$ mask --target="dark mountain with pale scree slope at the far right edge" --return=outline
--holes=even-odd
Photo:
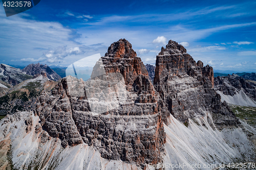
[[[222,100],[233,105],[256,107],[256,84],[232,74],[216,77],[214,87]]]

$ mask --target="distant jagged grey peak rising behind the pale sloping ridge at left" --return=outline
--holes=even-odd
[[[29,64],[28,66],[23,68],[22,71],[26,72],[27,75],[31,76],[41,74],[42,71],[45,71],[48,79],[53,81],[58,81],[59,79],[61,79],[61,77],[58,74],[56,74],[56,72],[46,64]]]

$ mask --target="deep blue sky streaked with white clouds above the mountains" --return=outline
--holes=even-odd
[[[1,3],[2,5],[2,3]],[[256,71],[255,1],[48,1],[6,17],[0,63],[68,66],[125,38],[155,64],[168,40],[214,69]]]

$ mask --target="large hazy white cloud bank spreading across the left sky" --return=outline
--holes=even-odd
[[[20,15],[6,17],[4,14],[0,8],[0,46],[5,49],[0,58],[7,58],[6,62],[61,62],[68,65],[86,56],[105,53],[104,45],[90,46],[90,41],[86,42],[87,46],[81,45],[77,42],[81,34],[59,22],[25,19]]]

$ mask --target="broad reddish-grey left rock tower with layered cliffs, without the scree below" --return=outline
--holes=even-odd
[[[116,73],[123,83],[113,84]],[[112,92],[120,96],[125,91],[125,100],[114,107]],[[105,102],[94,101],[102,94]],[[157,94],[143,62],[125,39],[111,44],[96,63],[91,81],[62,79],[52,95],[40,96],[36,110],[42,127],[59,137],[63,147],[83,141],[94,145],[105,159],[121,159],[142,168],[161,161],[165,133]]]

